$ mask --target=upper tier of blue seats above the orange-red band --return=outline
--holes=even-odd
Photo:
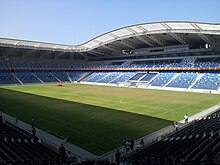
[[[0,58],[0,68],[9,69],[82,69],[82,68],[215,68],[220,64],[220,60],[217,58],[211,59],[196,59],[196,58],[184,58],[182,60],[175,60],[174,62],[124,62],[120,64],[114,64],[113,62],[100,62],[92,61],[85,62],[80,61],[77,63],[69,61],[59,61],[59,60],[45,60],[40,59],[18,59],[10,58],[5,60]]]

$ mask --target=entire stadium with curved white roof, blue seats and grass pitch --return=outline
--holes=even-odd
[[[219,163],[220,24],[0,38],[0,84],[2,164],[62,164],[61,144],[74,164]]]

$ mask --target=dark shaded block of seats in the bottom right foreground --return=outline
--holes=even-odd
[[[220,111],[125,156],[125,164],[219,164]]]

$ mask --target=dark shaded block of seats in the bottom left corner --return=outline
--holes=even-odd
[[[0,130],[0,163],[3,165],[57,164],[62,160],[58,151],[7,121],[0,122]]]

